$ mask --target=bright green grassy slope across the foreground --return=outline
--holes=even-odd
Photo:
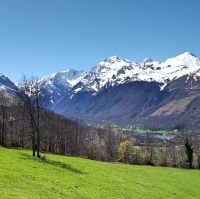
[[[44,156],[44,155],[43,155]],[[200,196],[200,171],[31,156],[0,147],[1,199],[186,198]]]

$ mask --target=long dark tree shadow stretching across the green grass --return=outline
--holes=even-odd
[[[33,156],[31,156],[27,153],[20,153],[20,155],[21,155],[21,159],[29,159],[29,160],[34,160],[34,161],[37,161],[37,162],[40,162],[40,163],[53,165],[55,167],[60,167],[62,169],[66,169],[68,171],[71,171],[71,172],[74,172],[74,173],[77,173],[77,174],[85,174],[86,173],[86,172],[82,172],[81,170],[72,167],[70,164],[66,164],[66,163],[61,162],[61,161],[49,160],[46,157],[36,158],[36,157],[33,157]]]

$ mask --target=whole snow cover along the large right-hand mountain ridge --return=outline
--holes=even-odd
[[[131,81],[159,82],[163,89],[168,82],[200,69],[200,59],[185,52],[165,62],[146,58],[138,64],[128,59],[112,56],[97,64],[74,87],[74,92],[98,92],[107,86],[116,86]]]

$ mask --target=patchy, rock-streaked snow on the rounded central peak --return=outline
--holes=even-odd
[[[139,72],[140,65],[128,59],[112,56],[92,68],[75,86],[75,92],[81,90],[98,92],[102,87],[123,84],[133,77],[133,71]]]

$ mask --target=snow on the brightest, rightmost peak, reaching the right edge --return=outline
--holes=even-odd
[[[143,65],[143,71],[138,75],[138,79],[160,82],[165,86],[173,79],[197,71],[200,68],[200,59],[186,52],[175,58],[167,59],[163,63],[151,60],[141,65]]]

